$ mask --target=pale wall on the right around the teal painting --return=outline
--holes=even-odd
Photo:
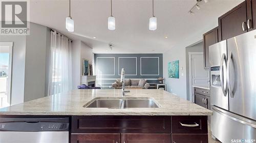
[[[216,27],[217,23],[210,23],[207,27],[201,28],[197,33],[191,37],[184,38],[182,43],[177,43],[170,47],[168,51],[163,53],[163,77],[167,84],[167,91],[174,93],[177,96],[187,99],[187,85],[186,85],[186,51],[185,47],[196,43],[203,38],[203,34],[212,28]],[[168,78],[168,62],[179,60],[180,62],[180,78]],[[181,69],[182,68],[182,69]],[[182,75],[183,74],[183,75]]]

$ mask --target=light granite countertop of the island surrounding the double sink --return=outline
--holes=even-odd
[[[44,98],[0,109],[0,115],[131,115],[131,116],[209,116],[212,111],[195,103],[181,99],[164,90],[130,90],[125,98],[154,98],[159,108],[84,108],[94,98],[121,97],[121,90],[72,90],[65,94],[56,94]]]

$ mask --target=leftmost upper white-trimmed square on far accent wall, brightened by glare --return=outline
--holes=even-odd
[[[97,57],[97,75],[115,75],[115,57]]]

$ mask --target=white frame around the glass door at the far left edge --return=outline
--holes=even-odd
[[[8,73],[10,75],[10,80],[8,81],[9,84],[9,97],[7,97],[7,102],[10,103],[11,106],[11,95],[12,95],[12,64],[13,64],[13,42],[0,42],[0,47],[9,47],[9,54],[11,54],[11,56],[9,56],[9,71],[11,71],[10,73]]]

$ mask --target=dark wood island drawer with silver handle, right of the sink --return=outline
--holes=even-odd
[[[172,116],[172,133],[207,134],[207,116]]]

